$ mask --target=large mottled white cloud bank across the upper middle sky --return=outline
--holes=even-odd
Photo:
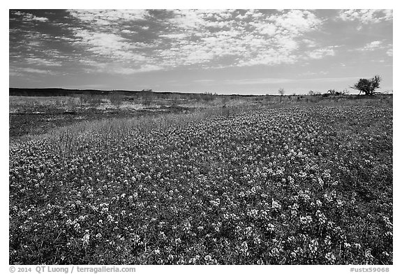
[[[100,62],[105,59],[127,65],[131,62],[122,72],[140,70],[144,64],[158,69],[195,65],[203,68],[278,65],[295,63],[301,56],[297,53],[299,38],[322,24],[309,10],[158,12],[165,16],[164,20],[154,17],[155,13],[149,10],[70,10],[71,17],[84,23],[70,28],[75,36],[72,43],[91,52],[93,59],[102,56]],[[152,21],[152,32],[135,23],[138,20]],[[139,26],[152,34],[131,30]],[[125,34],[133,36],[128,39]],[[220,63],[223,59],[225,64]]]

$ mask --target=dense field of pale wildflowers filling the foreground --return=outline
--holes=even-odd
[[[124,130],[10,145],[10,264],[393,263],[392,107]]]

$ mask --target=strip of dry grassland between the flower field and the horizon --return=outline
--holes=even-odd
[[[392,105],[392,96],[214,96],[152,93],[147,97],[107,96],[10,96],[10,142],[82,121],[131,119],[141,116],[180,114],[183,112],[233,112],[234,109],[290,107],[308,105]],[[216,110],[218,109],[218,110]],[[221,110],[219,110],[221,109]],[[229,110],[228,110],[229,109]]]

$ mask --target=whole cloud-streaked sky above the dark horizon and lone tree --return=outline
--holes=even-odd
[[[392,91],[392,10],[9,10],[9,85]]]

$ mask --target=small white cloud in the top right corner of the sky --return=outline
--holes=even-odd
[[[341,10],[339,18],[343,21],[358,21],[362,24],[393,20],[392,10]]]

